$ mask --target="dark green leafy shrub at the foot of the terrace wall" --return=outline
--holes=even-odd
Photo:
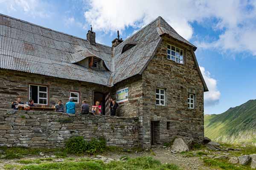
[[[66,142],[67,153],[88,153],[103,152],[106,149],[106,141],[104,138],[91,139],[90,142],[84,140],[83,136],[72,137]]]

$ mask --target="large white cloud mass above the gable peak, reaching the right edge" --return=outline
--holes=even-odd
[[[94,30],[124,30],[141,28],[162,16],[182,37],[193,35],[191,22],[205,24],[213,20],[213,30],[222,33],[215,41],[197,42],[201,48],[222,51],[249,51],[256,55],[256,1],[239,0],[88,0],[84,17]],[[209,22],[207,22],[209,23]]]

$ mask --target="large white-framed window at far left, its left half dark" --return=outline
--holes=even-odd
[[[35,104],[48,104],[48,88],[41,85],[29,85],[29,99],[33,99]]]

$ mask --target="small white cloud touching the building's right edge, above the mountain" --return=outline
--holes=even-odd
[[[219,102],[221,92],[217,89],[217,80],[211,77],[209,71],[205,71],[204,67],[199,66],[201,73],[204,77],[204,81],[209,89],[208,92],[204,93],[204,105],[211,106],[216,105]]]

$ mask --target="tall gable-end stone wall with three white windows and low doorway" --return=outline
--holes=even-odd
[[[185,64],[167,59],[167,43],[185,50]],[[177,136],[204,137],[204,88],[195,67],[191,48],[163,37],[157,53],[143,71],[143,126],[140,141],[143,147],[151,144],[151,121],[156,123],[157,144],[170,142]],[[165,89],[165,106],[156,105],[156,88]],[[195,94],[195,108],[187,108],[188,93]],[[169,123],[167,123],[169,122]],[[169,124],[169,127],[167,127]]]

